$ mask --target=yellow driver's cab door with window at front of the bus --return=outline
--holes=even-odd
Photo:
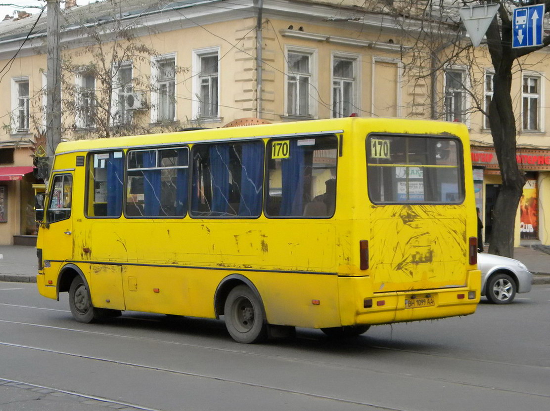
[[[43,230],[43,261],[46,280],[56,284],[59,268],[73,258],[73,219],[71,204],[73,173],[52,175]]]

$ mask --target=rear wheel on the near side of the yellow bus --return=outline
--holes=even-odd
[[[245,344],[266,340],[262,302],[248,286],[239,285],[229,292],[223,313],[233,340]]]

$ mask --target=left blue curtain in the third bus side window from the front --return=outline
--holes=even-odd
[[[229,205],[229,144],[210,147],[212,215],[224,215]]]

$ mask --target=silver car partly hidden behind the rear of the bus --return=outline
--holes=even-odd
[[[481,295],[493,304],[509,304],[516,293],[531,291],[533,275],[513,258],[477,253],[481,270]]]

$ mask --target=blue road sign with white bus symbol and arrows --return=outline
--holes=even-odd
[[[512,47],[542,46],[542,20],[544,4],[514,9],[512,19],[514,40]]]

